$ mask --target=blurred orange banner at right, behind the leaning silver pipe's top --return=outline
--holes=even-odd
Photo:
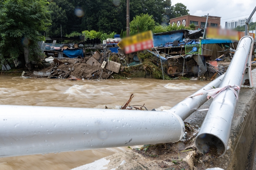
[[[255,38],[255,33],[249,33],[248,35]],[[218,27],[207,27],[206,36],[209,39],[227,39],[239,41],[243,36],[245,36],[245,32],[238,32],[235,30]]]

